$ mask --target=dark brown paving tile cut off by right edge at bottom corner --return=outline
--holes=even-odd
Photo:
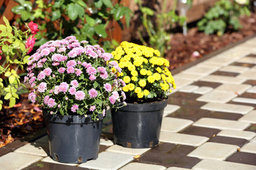
[[[232,154],[225,161],[236,162],[240,164],[256,165],[256,154],[247,152],[235,152],[235,154]]]

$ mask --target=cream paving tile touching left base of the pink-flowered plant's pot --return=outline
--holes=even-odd
[[[48,147],[48,145],[45,145],[45,147]],[[42,148],[43,145],[38,145],[36,143],[30,143],[28,145],[24,145],[23,147],[20,147],[16,149],[14,152],[19,152],[23,154],[34,154],[41,157],[47,157],[48,153]]]

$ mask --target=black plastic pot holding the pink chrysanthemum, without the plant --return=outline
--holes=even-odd
[[[56,162],[82,163],[97,159],[102,120],[93,122],[84,115],[50,115],[46,119],[50,157]]]

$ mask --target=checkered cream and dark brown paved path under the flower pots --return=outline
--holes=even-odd
[[[101,139],[96,160],[60,164],[48,157],[41,130],[1,147],[0,169],[256,170],[256,38],[174,79],[178,89],[169,96],[160,143],[153,149],[120,147],[105,134],[110,140]],[[111,125],[105,129],[111,131]]]

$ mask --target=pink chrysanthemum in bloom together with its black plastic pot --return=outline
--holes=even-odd
[[[97,158],[107,107],[119,107],[125,98],[125,84],[117,78],[121,69],[111,58],[99,45],[73,36],[46,42],[29,58],[25,79],[33,91],[28,98],[43,105],[55,161]]]

